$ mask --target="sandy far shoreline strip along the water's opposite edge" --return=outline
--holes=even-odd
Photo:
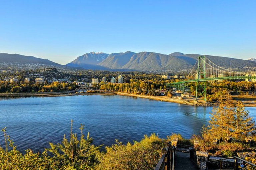
[[[145,96],[145,95],[122,93],[122,92],[75,93],[74,91],[66,91],[66,92],[46,92],[46,93],[0,93],[0,97],[2,98],[60,97],[60,96],[77,96],[77,95],[120,95],[120,96],[140,97],[140,98],[157,100],[162,102],[178,103],[178,104],[184,104],[189,106],[212,107],[216,105],[216,103],[192,103],[185,99],[174,99],[167,96]],[[244,98],[246,97],[234,96],[235,100],[244,99]],[[256,103],[254,102],[249,102],[245,100],[241,100],[241,101],[244,103],[245,107],[256,107]]]

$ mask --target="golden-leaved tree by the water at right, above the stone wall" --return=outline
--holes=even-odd
[[[203,138],[212,140],[232,136],[243,140],[254,135],[255,122],[249,112],[244,110],[242,102],[232,100],[227,91],[222,94],[219,106],[213,108],[209,125],[203,129]]]

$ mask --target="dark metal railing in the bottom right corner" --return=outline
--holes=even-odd
[[[227,159],[233,159],[233,160],[227,161]],[[219,163],[216,164],[216,162],[218,161]],[[234,156],[229,158],[221,158],[217,160],[207,161],[206,170],[226,170],[226,169],[239,170],[239,169],[242,169],[241,165],[244,166],[244,168],[250,167],[250,169],[256,169],[255,164]]]

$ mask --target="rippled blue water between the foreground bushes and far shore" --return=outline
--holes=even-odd
[[[255,117],[256,108],[246,109]],[[0,128],[7,127],[20,151],[42,152],[49,148],[48,142],[60,143],[64,134],[68,136],[71,119],[74,132],[79,133],[83,124],[85,136],[89,131],[94,144],[110,146],[115,139],[127,143],[151,133],[161,138],[181,133],[190,138],[207,124],[211,110],[118,95],[0,99]],[[2,133],[0,145],[4,146]]]

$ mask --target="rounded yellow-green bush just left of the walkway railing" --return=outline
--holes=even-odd
[[[162,139],[155,134],[145,135],[144,138],[134,144],[128,142],[126,145],[116,140],[116,144],[106,147],[106,152],[98,155],[100,164],[98,170],[136,170],[154,169],[164,147]]]

